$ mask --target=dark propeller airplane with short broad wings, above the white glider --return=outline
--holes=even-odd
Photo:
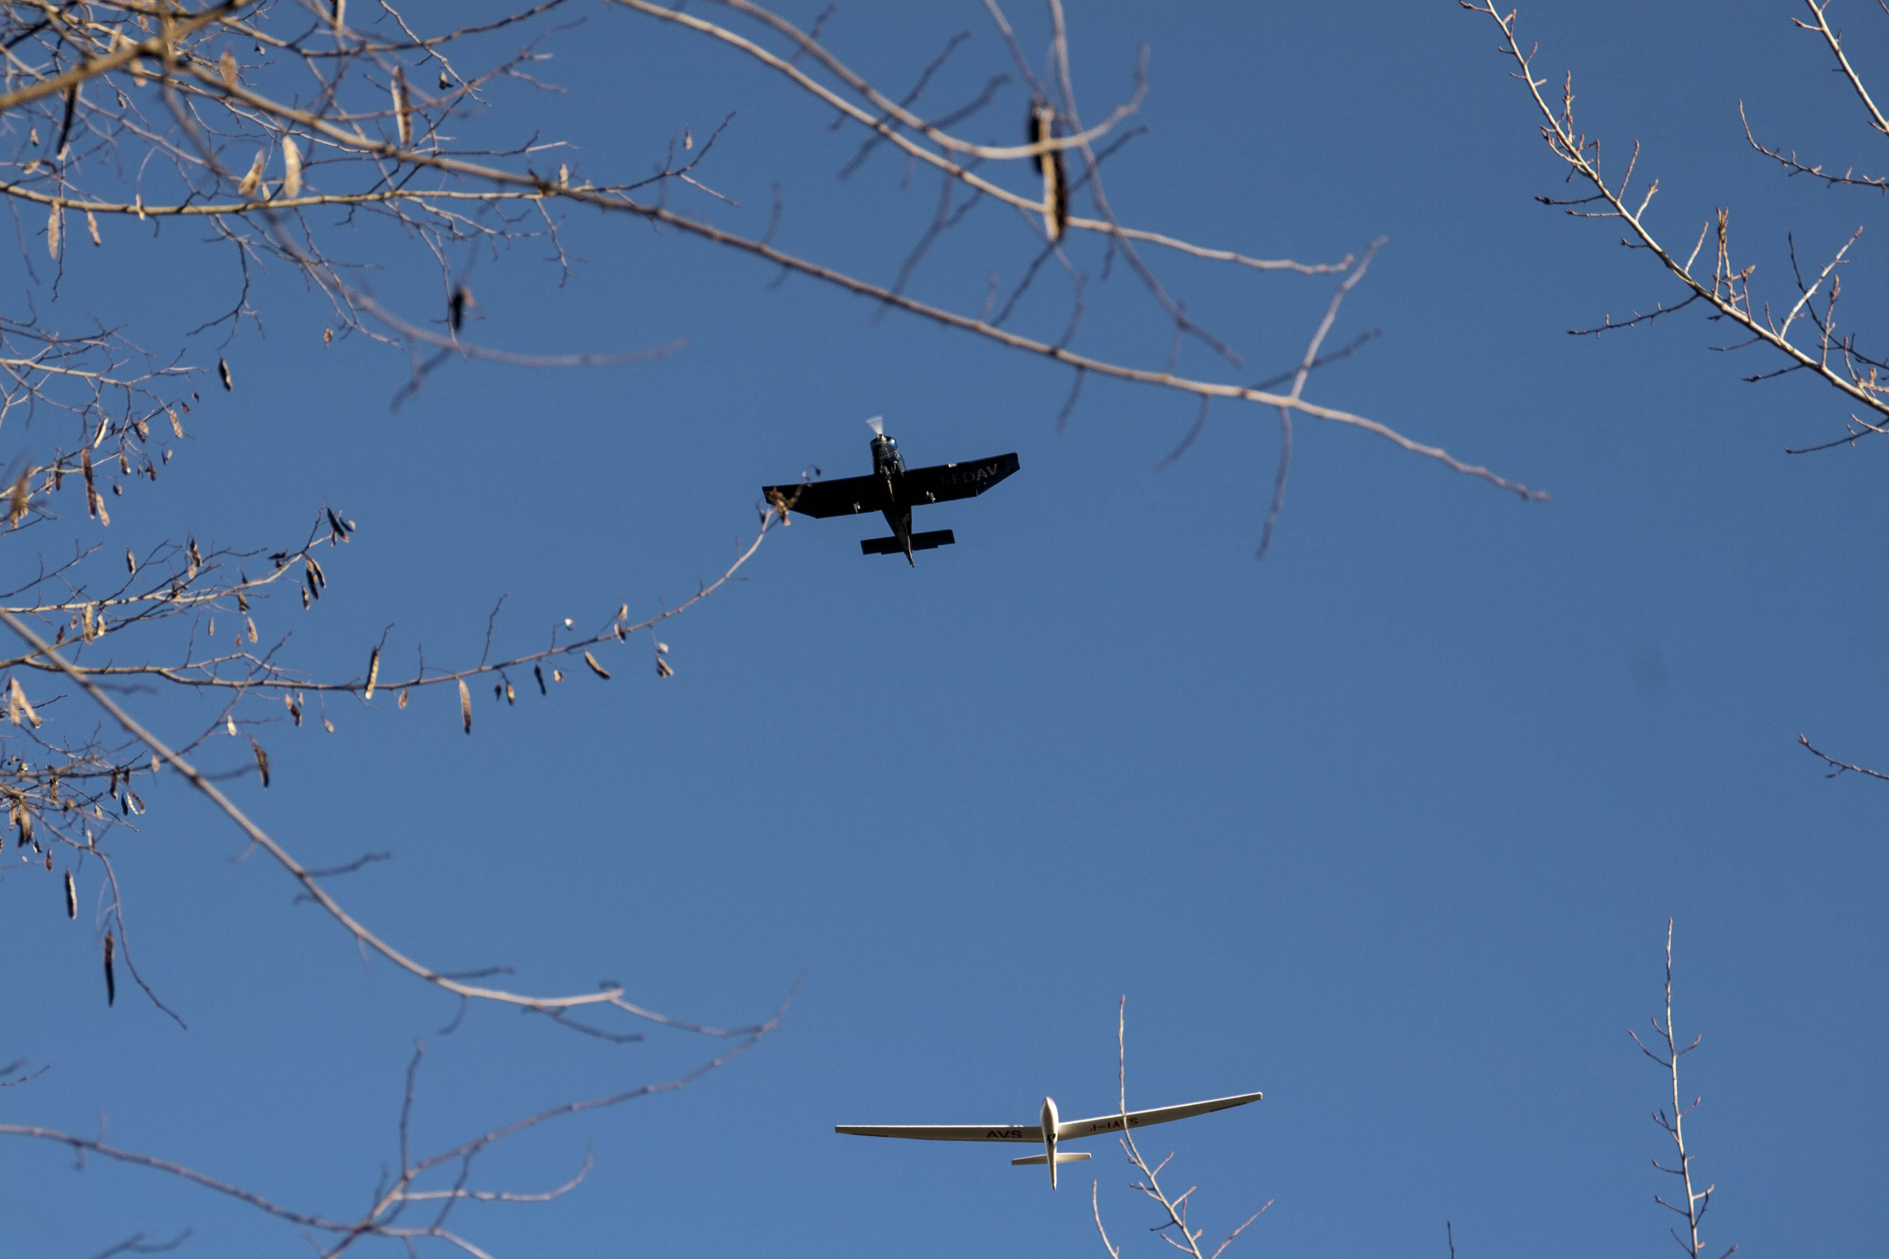
[[[801,481],[797,485],[763,485],[761,495],[782,512],[801,515],[854,515],[884,512],[892,527],[890,538],[861,538],[863,555],[905,555],[912,566],[912,551],[952,546],[958,538],[948,529],[912,532],[912,508],[952,498],[975,498],[1016,472],[1016,453],[994,455],[979,462],[948,462],[933,468],[905,468],[899,444],[886,436],[884,417],[865,421],[873,428],[873,474],[848,476],[839,481]]]

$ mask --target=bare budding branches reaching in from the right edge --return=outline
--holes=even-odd
[[[1659,179],[1643,177],[1634,189],[1634,174],[1640,164],[1640,142],[1632,143],[1625,162],[1615,172],[1602,164],[1602,143],[1598,138],[1579,130],[1574,121],[1574,74],[1566,74],[1560,85],[1560,100],[1547,77],[1536,77],[1536,45],[1523,47],[1517,26],[1517,13],[1504,15],[1492,0],[1460,0],[1472,13],[1489,17],[1500,32],[1500,53],[1515,64],[1511,77],[1523,81],[1528,91],[1532,113],[1540,119],[1541,140],[1549,153],[1566,168],[1568,181],[1577,185],[1575,196],[1538,196],[1545,206],[1558,206],[1575,219],[1617,221],[1625,234],[1621,243],[1643,253],[1659,274],[1664,274],[1674,289],[1674,298],[1657,298],[1647,306],[1636,306],[1630,317],[1615,321],[1611,315],[1589,328],[1570,328],[1570,336],[1602,336],[1636,328],[1655,319],[1674,315],[1689,306],[1698,306],[1715,323],[1736,328],[1734,340],[1715,345],[1723,351],[1751,349],[1764,361],[1742,379],[1747,383],[1774,381],[1781,378],[1804,378],[1834,393],[1836,406],[1847,410],[1840,436],[1802,447],[1785,447],[1787,455],[1813,455],[1838,447],[1851,449],[1859,440],[1889,432],[1889,351],[1866,347],[1857,332],[1838,328],[1836,306],[1842,296],[1844,268],[1849,266],[1849,249],[1863,236],[1857,227],[1821,264],[1802,264],[1796,257],[1796,240],[1787,236],[1791,257],[1791,285],[1774,298],[1753,294],[1753,264],[1734,259],[1732,249],[1732,211],[1728,206],[1717,208],[1713,217],[1700,225],[1691,245],[1668,245],[1647,219],[1647,210],[1659,194]],[[1863,74],[1844,51],[1842,32],[1830,25],[1830,9],[1836,0],[1804,0],[1808,19],[1791,19],[1793,25],[1819,40],[1830,55],[1832,70],[1855,92],[1864,119],[1878,136],[1889,138],[1889,115],[1883,115],[1863,79]],[[1889,13],[1889,9],[1885,9]],[[1543,91],[1547,94],[1543,94]],[[1745,142],[1762,159],[1778,164],[1785,176],[1804,176],[1830,189],[1872,189],[1889,193],[1889,177],[1857,174],[1855,166],[1844,164],[1842,172],[1834,164],[1806,160],[1796,149],[1772,147],[1753,130],[1751,119],[1740,102],[1740,125]],[[1689,232],[1691,228],[1687,228]],[[1708,247],[1710,245],[1710,253]],[[1683,260],[1681,260],[1683,253]],[[1708,270],[1710,268],[1710,270]],[[1772,306],[1778,302],[1778,306]],[[1806,736],[1798,742],[1829,766],[1829,778],[1846,772],[1868,778],[1889,778],[1889,774],[1851,764],[1827,755],[1812,746]]]

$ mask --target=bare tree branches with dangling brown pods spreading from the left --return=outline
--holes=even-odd
[[[565,234],[570,215],[586,215],[593,225],[657,228],[665,238],[744,255],[763,264],[757,277],[812,279],[865,298],[878,315],[916,315],[1060,366],[1069,372],[1071,387],[1058,423],[1069,419],[1088,378],[1196,398],[1194,427],[1164,464],[1200,436],[1215,400],[1266,408],[1281,425],[1281,457],[1258,540],[1262,555],[1285,502],[1296,417],[1371,432],[1524,500],[1543,498],[1540,491],[1464,462],[1385,421],[1305,396],[1315,372],[1349,359],[1370,340],[1371,332],[1364,332],[1336,347],[1332,342],[1345,296],[1364,279],[1383,242],[1336,262],[1298,262],[1198,245],[1120,221],[1105,191],[1103,164],[1141,134],[1130,123],[1149,91],[1147,53],[1133,60],[1120,100],[1099,121],[1084,123],[1060,0],[1048,0],[1043,15],[1050,53],[1041,68],[1022,53],[996,0],[984,0],[984,15],[1001,45],[997,59],[984,66],[980,87],[956,104],[926,111],[920,111],[920,98],[933,91],[965,38],[948,42],[909,91],[890,92],[822,42],[831,9],[803,30],[748,0],[697,6],[722,21],[648,0],[601,4],[693,36],[710,81],[757,70],[790,96],[831,111],[835,125],[856,128],[859,147],[841,168],[842,177],[859,172],[878,149],[901,153],[909,172],[935,176],[935,208],[916,225],[916,242],[897,274],[869,279],[848,259],[810,259],[776,243],[786,210],[778,193],[765,223],[750,225],[754,211],[716,189],[716,145],[729,121],[703,136],[684,128],[654,142],[659,160],[646,174],[589,170],[570,145],[546,136],[531,109],[546,59],[542,45],[578,0],[544,0],[493,21],[434,32],[417,30],[387,0],[355,0],[353,6],[346,0],[206,0],[196,6],[181,0],[17,0],[0,8],[6,55],[0,194],[15,217],[26,276],[26,291],[9,296],[11,313],[0,317],[0,423],[15,417],[8,428],[13,449],[4,474],[15,576],[0,595],[0,621],[17,642],[17,651],[0,659],[9,717],[0,734],[0,795],[15,848],[32,853],[32,863],[15,870],[15,880],[43,872],[57,883],[72,917],[77,917],[81,880],[96,880],[104,889],[106,910],[96,923],[94,948],[106,1000],[115,1000],[123,970],[151,1002],[183,1023],[179,1012],[162,1004],[161,978],[136,966],[127,931],[130,889],[119,885],[111,865],[115,842],[140,825],[145,797],[157,800],[153,783],[168,768],[206,797],[249,846],[268,853],[297,883],[298,895],[317,904],[357,946],[421,983],[453,993],[461,1010],[468,1002],[523,1008],[618,1044],[640,1036],[621,1031],[621,1023],[599,1023],[589,1016],[657,1023],[735,1044],[701,1070],[780,1025],[776,1012],[744,1027],[710,1027],[637,1004],[620,985],[586,993],[523,991],[523,985],[485,982],[497,970],[468,974],[421,961],[349,914],[331,887],[334,878],[383,853],[314,868],[295,857],[293,836],[261,827],[219,785],[253,774],[255,783],[268,787],[263,723],[285,715],[295,725],[304,719],[329,725],[331,702],[368,702],[385,695],[399,712],[410,695],[438,687],[457,698],[459,721],[470,734],[474,687],[491,685],[493,702],[512,704],[519,691],[529,695],[533,687],[548,697],[567,668],[608,680],[608,649],[638,634],[648,636],[650,668],[665,678],[672,668],[657,627],[720,591],[754,559],[773,529],[786,523],[780,504],[756,504],[759,519],[752,538],[693,595],[655,617],[633,619],[627,602],[612,613],[608,606],[618,604],[612,598],[584,629],[572,621],[553,623],[536,646],[495,651],[495,610],[476,661],[429,664],[423,647],[414,644],[416,664],[395,668],[389,651],[399,644],[382,636],[363,644],[359,674],[317,676],[297,663],[280,625],[295,602],[304,612],[315,610],[329,587],[329,566],[338,566],[338,547],[355,538],[355,525],[338,506],[308,504],[312,525],[293,542],[246,547],[200,546],[195,536],[106,542],[110,502],[125,493],[157,493],[162,468],[187,449],[187,425],[196,423],[193,408],[202,406],[200,391],[236,387],[242,336],[259,328],[264,313],[257,279],[264,266],[287,268],[304,281],[308,300],[327,321],[325,342],[363,338],[404,357],[410,372],[395,406],[429,376],[459,361],[533,370],[621,368],[680,351],[682,336],[655,345],[580,345],[555,355],[521,353],[474,338],[480,302],[470,281],[472,260],[536,242],[550,249],[555,268],[569,272],[578,262],[565,247]],[[963,128],[982,125],[979,119],[1005,102],[1005,92],[1011,104],[1003,108],[1013,109],[1011,117],[1030,121],[1028,140],[969,140]],[[1018,104],[1014,96],[1024,100]],[[1009,285],[997,283],[994,266],[992,283],[975,308],[914,296],[927,253],[986,206],[1013,213],[1011,243],[1018,249],[1001,259],[1011,266]],[[179,242],[178,228],[185,225],[208,234],[208,242]],[[55,315],[68,272],[79,266],[76,251],[98,247],[108,238],[115,247],[142,251],[140,262],[187,249],[200,251],[206,266],[219,260],[232,277],[227,304],[210,311],[179,345],[164,349],[147,349],[127,327],[110,321],[60,327]],[[1164,255],[1215,262],[1239,277],[1330,277],[1336,287],[1307,310],[1303,353],[1271,376],[1249,379],[1254,370],[1245,357],[1192,319],[1162,281],[1154,259]],[[431,311],[400,308],[368,281],[370,266],[436,276],[436,304]],[[1116,361],[1079,347],[1094,300],[1084,266],[1098,266],[1103,279],[1116,266],[1124,268],[1133,277],[1132,293],[1149,302],[1171,332],[1150,345],[1147,361]],[[1060,276],[1067,285],[1065,306],[1054,313],[1026,302],[1045,276]],[[1222,364],[1218,378],[1179,372],[1183,347],[1190,344]],[[66,489],[83,495],[83,513],[66,506]],[[28,540],[38,547],[30,555]],[[60,559],[45,559],[49,555]],[[591,596],[591,602],[604,600]],[[270,619],[274,625],[264,636],[263,623]],[[127,697],[132,693],[147,697],[138,700],[145,713],[130,710]],[[161,727],[183,732],[166,734]],[[227,751],[232,747],[240,749],[234,764]],[[465,1176],[476,1153],[553,1114],[680,1087],[701,1070],[572,1102],[433,1159],[406,1150],[402,1112],[399,1172],[368,1214],[346,1221],[298,1214],[208,1174],[113,1150],[102,1140],[32,1125],[8,1125],[0,1133],[59,1142],[79,1155],[132,1161],[238,1197],[327,1236],[325,1253],[363,1238],[408,1246],[433,1240],[484,1253],[446,1227],[455,1202],[480,1195],[525,1200],[563,1189],[523,1197],[472,1191]],[[419,1187],[423,1176],[444,1176],[448,1168],[457,1168],[450,1187]],[[1149,1176],[1152,1180],[1154,1172]],[[438,1206],[431,1225],[412,1223],[412,1208],[419,1204]],[[117,1250],[132,1253],[151,1246],[155,1242],[138,1236]]]

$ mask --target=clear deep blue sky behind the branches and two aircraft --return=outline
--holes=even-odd
[[[1889,21],[1851,4],[1851,53],[1889,66]],[[814,8],[784,9],[810,21]],[[1575,72],[1609,160],[1632,140],[1670,238],[1734,208],[1755,285],[1787,293],[1785,234],[1812,257],[1880,219],[1874,196],[1787,183],[1738,123],[1838,166],[1863,125],[1789,6],[1538,4],[1538,68]],[[431,15],[438,21],[438,13]],[[569,96],[516,98],[578,145],[574,168],[640,168],[729,109],[703,211],[886,279],[937,185],[901,191],[858,134],[735,55],[586,9],[544,45]],[[805,972],[786,1029],[680,1095],[578,1117],[493,1153],[476,1180],[553,1206],[468,1212],[497,1255],[1101,1253],[1088,1187],[1133,1255],[1160,1242],[1109,1148],[1054,1197],[1001,1150],[841,1138],[833,1123],[1030,1121],[1115,1104],[1128,999],[1130,1104],[1264,1089],[1156,1129],[1209,1234],[1271,1200],[1230,1253],[1464,1259],[1666,1253],[1664,1078],[1628,1027],[1660,999],[1677,919],[1677,1017],[1704,1048],[1694,1155],[1719,1185],[1708,1240],[1742,1253],[1863,1253],[1885,1157],[1883,893],[1889,785],[1829,781],[1800,732],[1889,764],[1889,613],[1868,555],[1881,459],[1815,457],[1844,408],[1776,366],[1711,353],[1679,315],[1602,342],[1570,327],[1672,300],[1615,228],[1532,202],[1562,191],[1494,28],[1455,4],[1075,6],[1079,89],[1101,111],[1152,45],[1152,130],[1111,162],[1124,221],[1305,260],[1390,236],[1336,336],[1383,328],[1309,394],[1540,485],[1523,504],[1351,430],[1300,423],[1286,512],[1256,564],[1277,425],[1090,381],[706,245],[570,217],[559,285],[542,247],[480,262],[491,344],[612,351],[689,338],[635,368],[455,364],[399,413],[404,364],[342,340],[287,274],[264,334],[183,342],[229,357],[157,491],[113,502],[106,542],[195,530],[298,538],[323,500],[359,523],[323,553],[331,595],[272,606],[295,664],[529,649],[563,617],[646,613],[725,566],[757,487],[867,466],[867,415],[912,462],[1018,451],[1022,472],[939,508],[958,546],[916,568],[861,557],[854,521],[799,521],[744,581],[646,646],[516,708],[474,691],[399,712],[338,704],[336,732],[268,729],[274,785],[234,791],[312,865],[393,849],[336,881],[349,908],[442,966],[506,963],[569,991],[621,980],[705,1021],[763,1016]],[[1035,11],[1018,13],[1026,43]],[[1028,26],[1026,26],[1028,23]],[[833,47],[909,81],[975,30],[941,98],[1007,68],[977,6],[842,8]],[[1031,43],[1033,47],[1035,43]],[[990,136],[1013,138],[1011,113]],[[975,138],[984,132],[971,128]],[[108,225],[51,310],[125,311],[145,344],[227,304],[232,272],[187,232]],[[1881,315],[1881,257],[1855,251],[1853,327]],[[376,283],[436,302],[387,242]],[[980,208],[914,293],[977,304],[1030,242]],[[1086,253],[1082,253],[1086,251]],[[1322,277],[1154,259],[1188,310],[1268,376],[1296,361]],[[1079,242],[1079,264],[1099,251]],[[25,289],[15,272],[13,291]],[[1054,332],[1065,289],[1018,319]],[[166,340],[168,338],[168,340]],[[1160,313],[1092,279],[1079,340],[1160,364]],[[1228,379],[1200,347],[1186,372]],[[96,532],[96,530],[94,530]],[[87,538],[85,530],[77,530]],[[15,555],[15,566],[28,557]],[[189,706],[134,697],[159,729]],[[134,706],[136,706],[134,704]],[[238,747],[230,742],[232,747]],[[242,761],[240,747],[221,755]],[[705,1042],[614,1048],[453,1004],[363,966],[346,936],[172,781],[121,846],[140,965],[191,1031],[136,999],[106,1010],[96,949],[32,870],[0,881],[9,1044],[51,1063],[0,1095],[15,1123],[93,1131],[298,1206],[349,1210],[395,1157],[400,1072],[427,1044],[417,1142],[676,1074]],[[91,889],[93,893],[96,887]],[[83,917],[83,915],[81,915]],[[8,1253],[85,1255],[134,1229],[196,1229],[187,1253],[298,1246],[281,1225],[125,1168],[0,1148]],[[1166,1250],[1166,1248],[1162,1248]]]

